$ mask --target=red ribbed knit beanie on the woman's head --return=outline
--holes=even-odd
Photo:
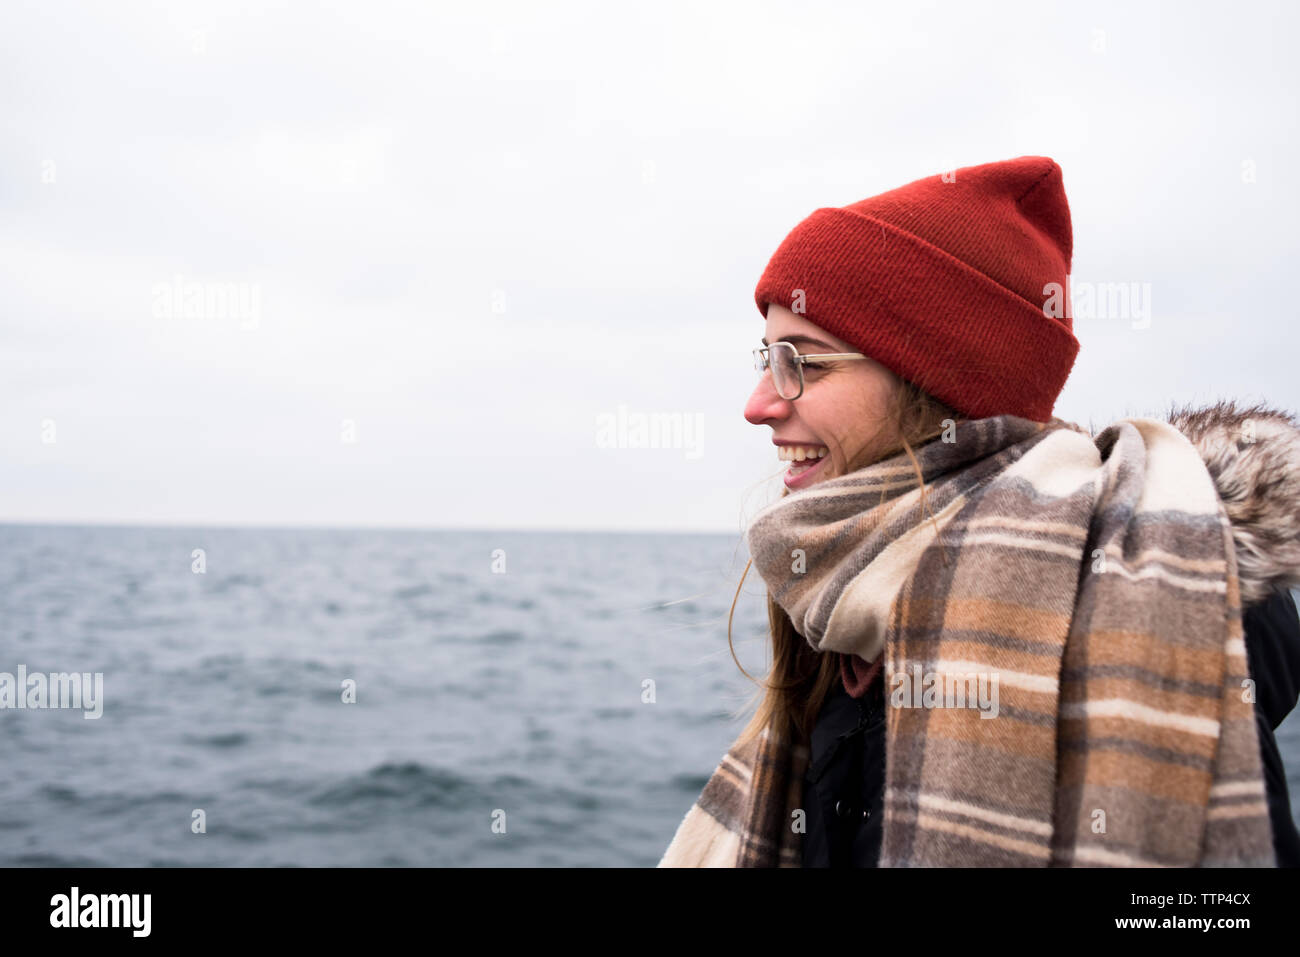
[[[1020,156],[816,209],[754,302],[764,317],[767,303],[805,316],[965,416],[1046,421],[1079,352],[1069,307],[1046,308],[1069,293],[1071,254],[1061,168]]]

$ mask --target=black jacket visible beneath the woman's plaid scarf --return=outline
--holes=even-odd
[[[1279,867],[1300,867],[1300,832],[1291,817],[1287,778],[1273,729],[1300,696],[1300,615],[1286,589],[1243,615],[1254,679],[1254,720]],[[875,867],[884,824],[884,674],[861,700],[836,681],[812,728],[805,783],[805,867]]]

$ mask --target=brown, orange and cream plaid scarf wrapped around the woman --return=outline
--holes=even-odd
[[[1273,866],[1232,531],[1173,424],[959,420],[749,531],[818,651],[884,654],[880,866]],[[801,866],[806,741],[733,744],[660,867]]]

